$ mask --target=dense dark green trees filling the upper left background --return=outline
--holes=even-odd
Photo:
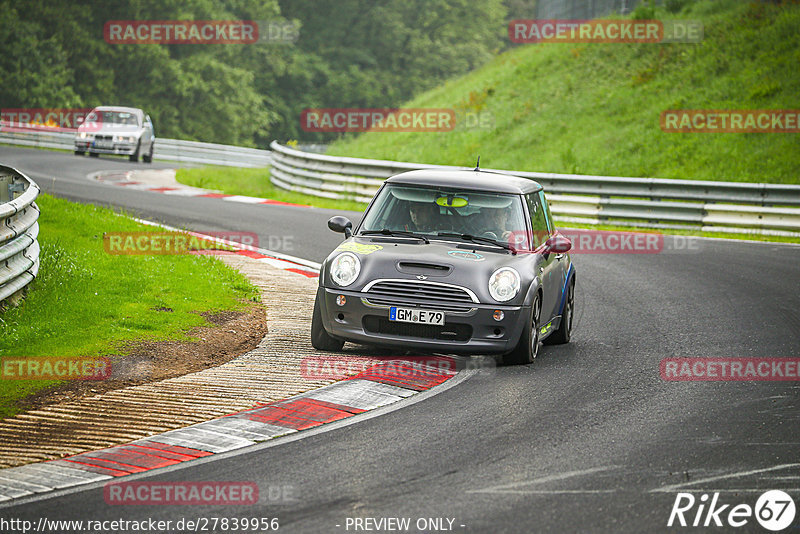
[[[311,141],[304,108],[399,106],[491,59],[507,12],[501,0],[0,0],[0,107],[130,105],[163,137]],[[109,20],[300,29],[293,44],[109,44]]]

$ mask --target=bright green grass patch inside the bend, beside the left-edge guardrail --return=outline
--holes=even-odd
[[[39,276],[17,308],[0,313],[0,357],[111,356],[129,342],[188,340],[198,312],[258,300],[241,273],[208,256],[114,256],[104,232],[159,229],[93,205],[41,195]],[[156,311],[170,308],[172,312]],[[0,380],[0,417],[54,382]]]

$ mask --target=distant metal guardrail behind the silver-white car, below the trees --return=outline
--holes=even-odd
[[[48,131],[43,127],[9,129],[0,123],[0,143],[74,150],[74,140],[74,132]],[[153,159],[228,167],[268,167],[271,154],[269,150],[257,148],[156,137]]]

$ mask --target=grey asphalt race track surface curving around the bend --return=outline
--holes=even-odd
[[[325,226],[328,210],[86,179],[143,164],[11,147],[0,147],[0,162],[46,192],[168,224],[292,235],[287,253],[314,261],[341,239]],[[667,238],[668,249],[679,244]],[[669,532],[721,530],[667,528],[678,492],[716,491],[720,504],[754,506],[762,492],[783,489],[800,507],[800,382],[667,382],[659,374],[667,357],[800,356],[800,247],[693,246],[574,255],[573,341],[544,347],[532,365],[484,369],[379,416],[139,477],[253,481],[264,494],[289,488],[276,500],[109,506],[95,486],[0,508],[0,517],[277,517],[283,532],[355,532],[348,518],[356,517],[410,518],[408,531],[417,532],[420,518],[449,518],[456,532]],[[787,532],[799,527],[800,514]],[[767,532],[754,518],[725,530]]]

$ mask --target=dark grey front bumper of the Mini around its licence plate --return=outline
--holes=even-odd
[[[368,294],[320,287],[317,290],[322,324],[337,338],[367,345],[406,348],[425,352],[505,354],[517,346],[530,316],[530,306],[502,306],[398,300],[391,305],[420,307],[445,312],[444,326],[389,321],[390,305],[376,304]],[[344,295],[344,306],[336,297]],[[504,318],[495,321],[495,310]]]

